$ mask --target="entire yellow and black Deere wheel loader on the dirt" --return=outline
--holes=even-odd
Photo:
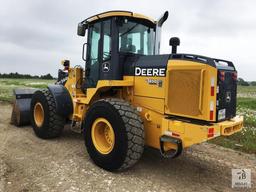
[[[78,24],[85,37],[85,66],[62,62],[47,89],[14,90],[12,120],[31,124],[42,139],[59,137],[64,125],[84,136],[93,162],[108,171],[132,167],[144,146],[163,157],[243,127],[236,115],[237,71],[232,62],[177,53],[159,54],[158,20],[129,11],[109,11]]]

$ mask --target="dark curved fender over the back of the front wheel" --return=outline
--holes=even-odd
[[[55,100],[56,113],[65,118],[72,114],[73,101],[66,87],[63,85],[48,85],[47,88]]]

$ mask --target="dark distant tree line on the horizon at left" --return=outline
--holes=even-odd
[[[12,78],[12,79],[54,79],[54,77],[48,73],[46,75],[30,75],[19,73],[0,73],[0,78]]]

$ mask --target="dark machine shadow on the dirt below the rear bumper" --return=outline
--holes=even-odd
[[[164,158],[158,150],[150,147],[145,148],[142,158],[134,169],[134,171],[147,169],[152,174],[163,175],[167,180],[168,178],[190,181],[200,179],[203,182],[206,178],[215,180],[218,178],[220,183],[224,182],[225,175],[230,172],[230,168],[224,165],[194,157],[186,152],[175,159]]]

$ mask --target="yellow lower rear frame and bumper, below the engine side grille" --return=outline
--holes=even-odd
[[[152,99],[152,98],[151,98]],[[139,107],[141,118],[144,122],[145,143],[148,146],[160,147],[160,136],[167,135],[176,137],[182,140],[183,148],[187,148],[193,144],[202,143],[218,136],[232,135],[241,131],[243,127],[243,117],[237,116],[229,121],[211,124],[196,124],[193,121],[184,119],[170,119],[163,113],[156,112],[154,105],[161,105],[163,101],[151,100],[141,97],[134,97],[133,105]],[[154,103],[154,104],[150,104]],[[148,107],[150,106],[150,107]],[[214,128],[213,137],[208,138],[208,129]],[[174,133],[174,135],[172,135]],[[177,136],[179,135],[179,136]],[[175,148],[173,145],[168,145],[167,148]]]

